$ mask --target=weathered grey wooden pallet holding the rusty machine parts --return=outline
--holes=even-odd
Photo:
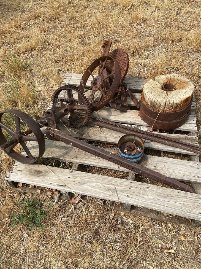
[[[81,76],[81,74],[67,73],[62,85],[79,85]],[[140,100],[141,90],[145,80],[126,78],[125,82],[129,89],[134,92],[135,96]],[[139,111],[135,110],[135,104],[130,98],[128,98],[128,104],[132,106],[132,110],[128,110],[127,113],[111,108],[103,108],[98,112],[94,112],[94,114],[115,122],[147,126],[147,124],[141,120]],[[118,143],[119,138],[124,135],[121,132],[99,127],[84,127],[79,131],[66,128],[62,123],[60,123],[59,127],[62,132],[77,138],[112,143],[115,145]],[[188,120],[176,130],[177,132],[185,131],[186,133],[169,134],[164,132],[161,134],[198,144],[198,138],[196,136],[195,101],[193,101],[191,115]],[[191,135],[187,132],[190,132]],[[27,145],[33,156],[37,156],[38,144],[36,142],[28,142]],[[184,218],[189,218],[196,220],[194,221],[195,225],[201,224],[201,164],[199,163],[198,155],[151,141],[146,141],[145,147],[147,149],[161,151],[161,155],[164,151],[190,155],[191,161],[144,155],[141,164],[168,177],[175,178],[176,180],[192,183],[196,194],[134,182],[134,173],[129,172],[127,169],[95,157],[71,145],[50,140],[46,140],[46,151],[43,158],[74,163],[73,167],[77,168],[78,165],[84,164],[129,172],[128,180],[102,175],[95,176],[94,174],[76,171],[75,169],[68,170],[39,164],[23,165],[16,162],[13,170],[8,174],[6,181],[12,184],[13,187],[16,186],[14,182],[22,182],[57,189],[65,193],[81,193],[120,202],[121,204],[118,209],[123,208],[123,210],[128,210],[136,215],[149,216],[164,221],[170,220],[182,224],[188,222]],[[27,187],[17,189],[27,190]],[[123,206],[122,203],[127,204],[127,206]]]

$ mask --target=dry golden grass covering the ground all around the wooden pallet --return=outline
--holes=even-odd
[[[200,18],[197,0],[1,0],[0,111],[41,115],[65,72],[82,73],[111,37],[129,55],[128,76],[176,72],[195,82],[200,128]],[[31,195],[5,185],[12,161],[0,154],[0,268],[200,268],[200,228],[103,209],[97,199],[60,201],[45,231],[11,228],[6,213]]]

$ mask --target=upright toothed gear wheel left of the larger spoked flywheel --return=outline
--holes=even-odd
[[[59,96],[60,93],[64,91],[63,96]],[[82,103],[79,104],[78,102],[75,102],[75,99],[73,98],[73,91],[76,91],[78,93],[78,96],[81,98]],[[76,128],[80,128],[89,121],[92,110],[89,100],[86,98],[84,93],[78,89],[78,87],[72,86],[72,85],[64,85],[58,88],[54,93],[52,97],[52,104],[55,107],[59,107],[60,102],[65,102],[66,108],[70,111],[69,121],[71,126]],[[85,112],[85,115],[83,114],[75,114],[75,110],[80,110]],[[75,118],[76,116],[76,118]]]

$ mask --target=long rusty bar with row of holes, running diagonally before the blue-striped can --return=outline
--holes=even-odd
[[[148,177],[150,179],[153,179],[155,181],[166,184],[166,185],[173,187],[177,190],[195,193],[195,190],[189,185],[181,183],[175,179],[166,177],[166,176],[164,176],[158,172],[155,172],[149,168],[143,167],[140,164],[137,164],[137,163],[131,162],[127,159],[121,158],[116,154],[113,154],[113,153],[108,154],[108,151],[106,151],[102,148],[92,146],[92,145],[90,145],[82,140],[76,139],[76,138],[69,136],[67,134],[63,134],[60,131],[46,129],[45,132],[46,132],[47,138],[49,138],[49,139],[54,139],[54,140],[62,141],[66,144],[71,144],[72,146],[74,146],[76,148],[79,148],[79,149],[86,151],[88,153],[91,153],[97,157],[103,158],[103,159],[108,160],[112,163],[115,163],[119,166],[127,168],[128,170],[133,171],[134,173],[143,175],[143,176]]]

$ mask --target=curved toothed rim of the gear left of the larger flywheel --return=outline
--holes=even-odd
[[[85,119],[82,122],[80,122],[80,124],[75,126],[76,128],[83,127],[89,121],[89,119],[91,117],[91,113],[92,113],[91,105],[90,105],[89,100],[84,95],[84,93],[81,90],[78,89],[78,87],[66,84],[64,86],[61,86],[57,90],[55,90],[55,92],[53,93],[53,97],[52,97],[53,106],[55,105],[55,98],[57,98],[59,96],[59,94],[60,94],[60,92],[62,90],[74,90],[74,91],[76,91],[78,94],[80,94],[81,98],[83,99],[83,103],[87,106],[87,115],[86,115]]]

